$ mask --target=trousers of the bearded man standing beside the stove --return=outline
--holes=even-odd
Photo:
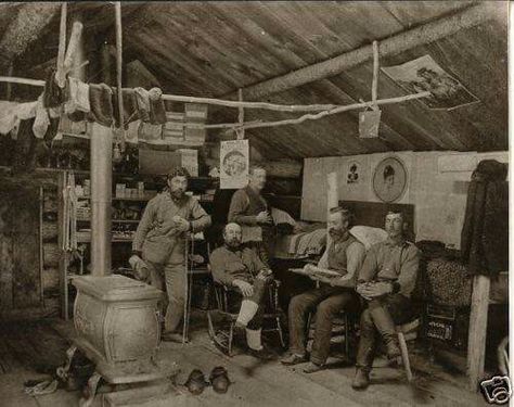
[[[179,262],[179,263],[177,263]],[[166,265],[146,260],[150,269],[150,281],[153,287],[166,292],[160,304],[165,311],[164,328],[166,332],[175,332],[179,328],[185,302],[185,263],[182,258],[170,258]]]

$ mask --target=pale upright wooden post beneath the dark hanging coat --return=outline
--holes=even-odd
[[[467,374],[470,378],[470,390],[473,392],[478,390],[478,382],[484,379],[490,283],[490,279],[487,276],[476,276],[473,280],[467,342]]]

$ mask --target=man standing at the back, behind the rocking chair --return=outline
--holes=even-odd
[[[270,207],[261,195],[265,186],[266,169],[252,167],[248,185],[232,195],[229,221],[241,225],[242,242],[248,242],[262,262],[269,264],[274,243],[274,230]]]

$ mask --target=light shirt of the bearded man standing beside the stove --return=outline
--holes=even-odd
[[[183,196],[175,201],[169,191],[164,191],[151,199],[144,209],[141,221],[132,242],[133,251],[142,251],[144,240],[150,237],[178,237],[174,216],[180,216],[191,221],[191,231],[198,232],[210,226],[210,216],[192,196]]]

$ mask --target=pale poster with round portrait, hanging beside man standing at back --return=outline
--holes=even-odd
[[[246,187],[248,183],[248,140],[221,141],[219,156],[221,189]]]

